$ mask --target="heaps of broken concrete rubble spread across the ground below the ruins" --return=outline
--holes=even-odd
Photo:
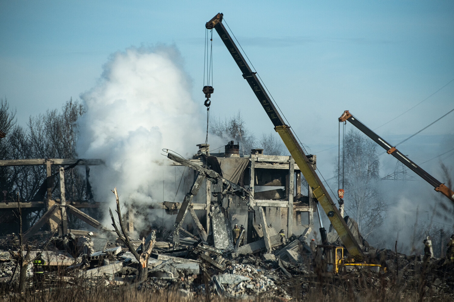
[[[396,257],[394,251],[382,249],[376,251],[375,259],[386,267],[385,273],[362,270],[321,273],[316,269],[316,257],[304,236],[292,236],[286,244],[271,240],[271,251],[262,246],[263,238],[244,244],[236,251],[217,249],[196,239],[182,235],[175,248],[172,238],[157,241],[148,259],[148,278],[136,283],[137,287],[157,292],[178,290],[184,297],[219,295],[246,299],[259,296],[281,301],[301,298],[320,286],[329,288],[328,283],[350,287],[354,292],[366,288],[387,291],[398,286],[402,293],[424,288],[432,294],[454,295],[454,265],[445,259],[432,258],[424,263],[421,255],[397,254]],[[18,245],[14,236],[2,240],[0,282],[5,285],[14,279]],[[63,280],[69,285],[77,280],[85,281],[88,287],[100,284],[117,287],[136,282],[138,261],[115,238],[69,233],[55,236],[50,242],[44,251],[33,250],[40,246],[39,242],[31,245],[27,267],[29,284],[37,282],[37,273],[33,272],[36,268],[31,262],[39,257],[46,263],[44,273],[39,276],[40,286],[52,286],[56,271],[63,272]],[[138,247],[139,241],[133,244]],[[95,251],[87,253],[87,246],[93,246]],[[296,286],[299,296],[292,297]]]

